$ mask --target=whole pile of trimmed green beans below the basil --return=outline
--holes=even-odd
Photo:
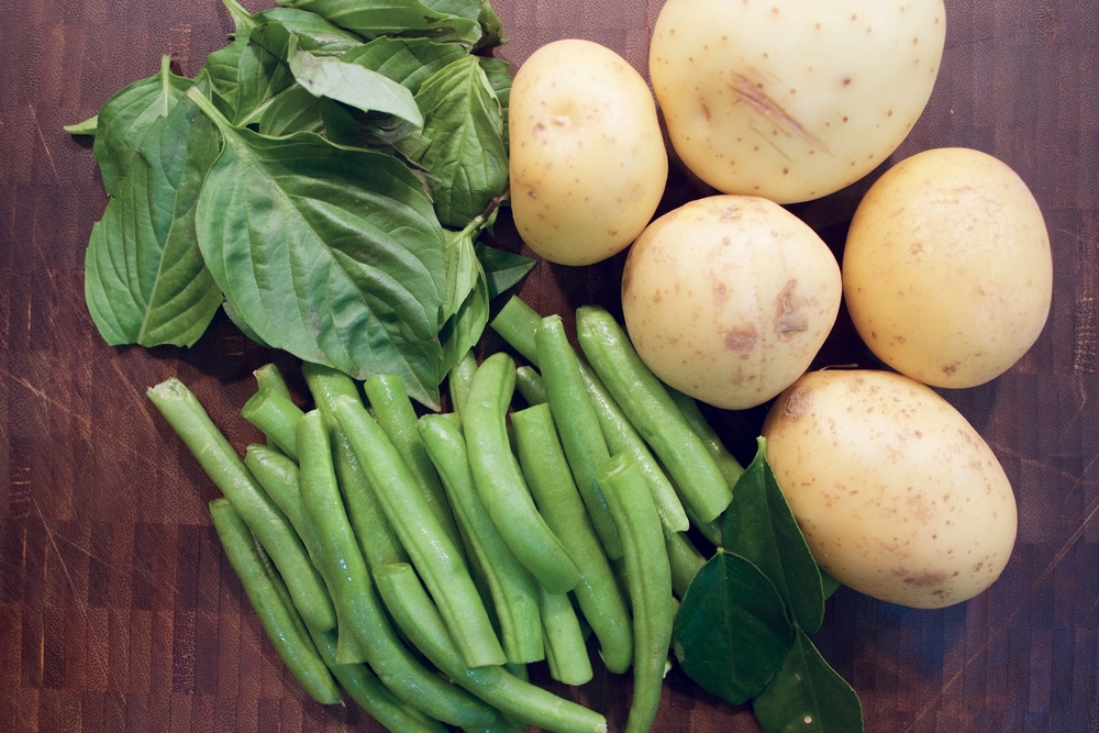
[[[513,352],[467,353],[449,412],[308,363],[295,396],[265,365],[243,457],[178,379],[147,395],[221,490],[212,524],[310,698],[390,731],[602,733],[578,701],[602,667],[632,671],[622,729],[643,733],[743,468],[604,311],[578,311],[579,351],[519,298],[490,325]]]

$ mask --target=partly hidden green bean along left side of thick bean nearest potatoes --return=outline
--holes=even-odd
[[[588,398],[595,406],[596,414],[599,417],[599,426],[607,438],[607,447],[612,454],[629,453],[637,462],[637,467],[645,476],[648,484],[648,491],[656,502],[656,510],[660,513],[660,521],[664,526],[673,532],[682,532],[690,526],[682,502],[676,493],[675,485],[668,479],[664,467],[653,456],[645,444],[644,438],[637,430],[630,423],[630,419],[622,412],[607,387],[600,381],[592,368],[578,359],[580,365],[580,378],[588,390]]]

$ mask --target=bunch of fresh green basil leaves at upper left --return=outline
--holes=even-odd
[[[223,0],[230,42],[67,127],[109,196],[86,299],[112,345],[192,345],[219,308],[356,379],[439,385],[533,260],[477,243],[507,200],[508,64],[486,0]]]

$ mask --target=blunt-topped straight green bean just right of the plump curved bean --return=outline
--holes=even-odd
[[[622,674],[633,658],[626,599],[573,481],[548,404],[512,413],[519,462],[550,527],[571,548],[580,568],[573,589],[607,668]]]

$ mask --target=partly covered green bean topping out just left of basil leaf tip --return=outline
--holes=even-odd
[[[391,375],[370,377],[364,388],[375,420],[415,479],[415,486],[423,493],[431,513],[439,520],[440,526],[449,536],[454,546],[464,555],[462,537],[454,524],[451,506],[446,502],[446,493],[439,481],[439,474],[423,447],[423,440],[415,426],[415,408],[412,407],[400,377]]]

